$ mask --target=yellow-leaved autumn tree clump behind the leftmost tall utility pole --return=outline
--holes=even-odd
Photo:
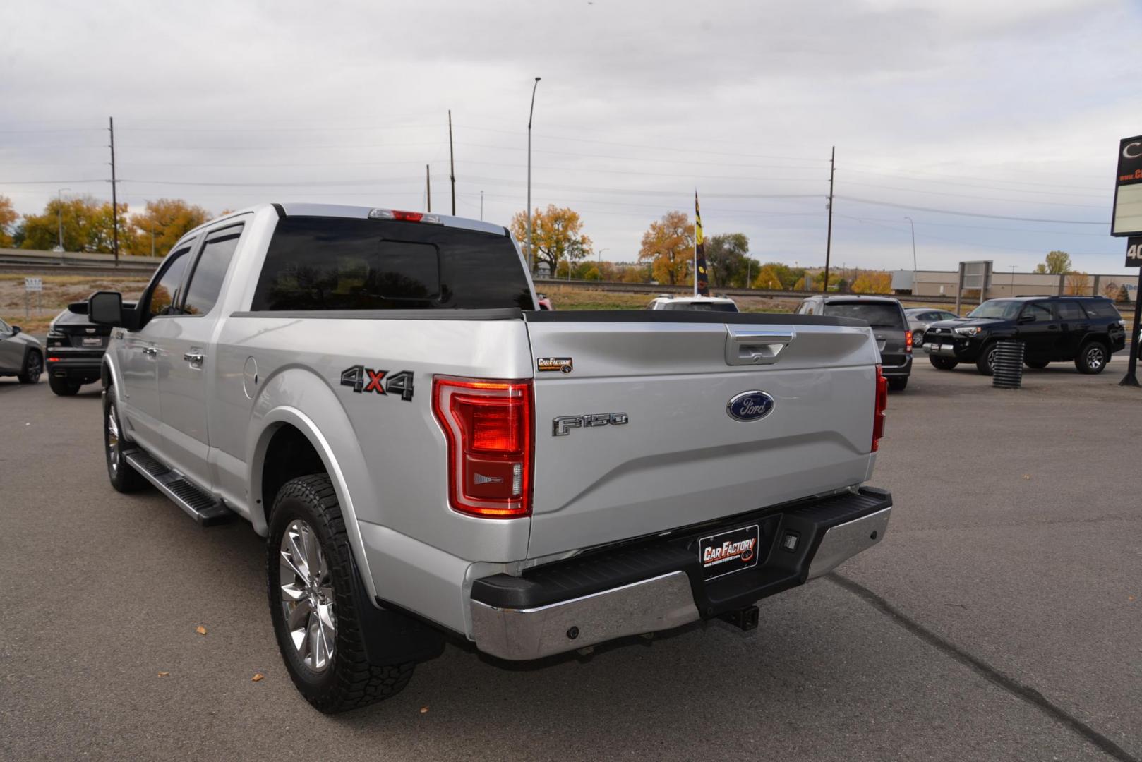
[[[63,215],[64,248],[70,251],[113,250],[113,211],[110,201],[90,195],[51,199],[40,215],[24,215],[16,238],[22,249],[50,250],[58,242],[59,216]],[[127,204],[119,204],[120,241],[124,241]]]

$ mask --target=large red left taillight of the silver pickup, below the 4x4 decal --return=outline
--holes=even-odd
[[[531,382],[437,376],[432,407],[448,440],[452,508],[491,519],[531,515]]]

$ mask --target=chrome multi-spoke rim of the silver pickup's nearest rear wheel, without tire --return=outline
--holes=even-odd
[[[282,615],[290,642],[305,666],[323,672],[333,658],[337,637],[329,564],[316,532],[300,519],[286,528],[280,553]]]

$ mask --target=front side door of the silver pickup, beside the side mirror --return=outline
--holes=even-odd
[[[116,328],[113,331],[113,335],[122,331],[122,340],[112,345],[121,385],[119,396],[122,406],[119,412],[130,439],[152,452],[158,451],[162,444],[155,362],[159,350],[155,342],[158,336],[166,332],[164,323],[170,320],[174,305],[179,298],[193,243],[182,243],[159,266],[136,307],[139,311],[140,328]]]

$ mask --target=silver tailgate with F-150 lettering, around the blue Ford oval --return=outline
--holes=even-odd
[[[528,330],[537,362],[529,558],[868,476],[877,350],[860,322],[552,312],[529,314]],[[769,411],[731,417],[731,399],[753,391],[772,398]]]

